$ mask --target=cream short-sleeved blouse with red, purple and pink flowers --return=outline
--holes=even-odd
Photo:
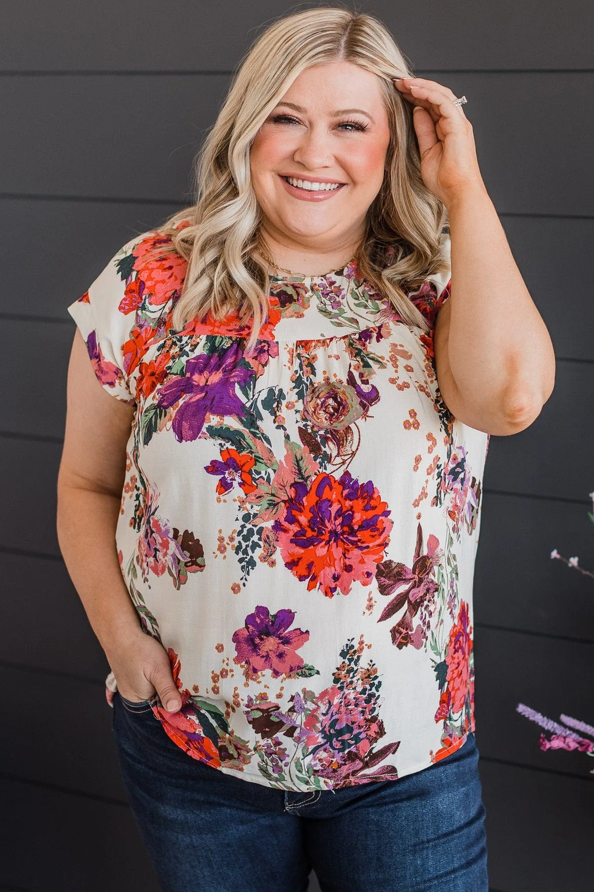
[[[167,241],[134,237],[68,308],[134,407],[116,546],[182,708],[146,702],[188,756],[274,789],[418,772],[475,729],[489,435],[437,386],[450,278],[410,293],[426,335],[356,261],[273,277],[248,352],[234,314],[173,329],[186,261],[147,256]],[[116,689],[110,673],[110,705]]]

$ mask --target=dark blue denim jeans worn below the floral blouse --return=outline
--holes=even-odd
[[[191,758],[116,693],[128,802],[164,892],[488,892],[473,734],[400,780],[285,792]]]

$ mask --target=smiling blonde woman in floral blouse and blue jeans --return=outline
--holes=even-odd
[[[368,15],[277,21],[195,205],[69,306],[61,549],[167,890],[488,888],[484,459],[555,366],[462,100],[407,75]]]

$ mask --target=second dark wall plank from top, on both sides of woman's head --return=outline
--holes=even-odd
[[[594,215],[594,169],[583,163],[590,133],[576,125],[594,113],[594,72],[433,79],[468,97],[500,212]],[[227,75],[0,78],[0,192],[186,201],[192,157],[228,83]],[[34,163],[32,146],[43,146]]]

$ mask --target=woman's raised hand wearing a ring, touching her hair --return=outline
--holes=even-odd
[[[456,95],[426,78],[399,78],[394,81],[403,99],[418,106],[412,119],[419,142],[420,174],[430,192],[447,207],[448,203],[481,186],[472,124],[462,105],[454,105]]]

